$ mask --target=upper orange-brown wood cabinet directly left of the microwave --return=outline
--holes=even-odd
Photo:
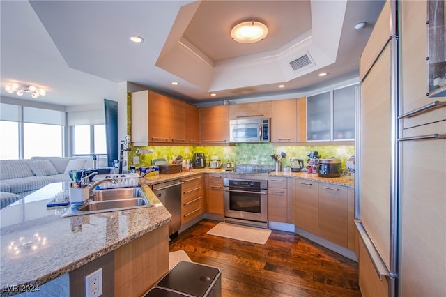
[[[229,105],[200,108],[201,144],[229,144]]]

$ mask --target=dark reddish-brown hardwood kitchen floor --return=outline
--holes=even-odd
[[[355,261],[290,232],[272,230],[265,245],[206,234],[202,220],[173,238],[169,252],[220,268],[222,296],[361,296]]]

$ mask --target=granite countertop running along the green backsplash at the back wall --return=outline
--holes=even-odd
[[[318,174],[308,174],[307,172],[276,172],[270,173],[247,173],[247,172],[231,172],[224,169],[193,169],[192,172],[180,172],[176,174],[160,174],[157,176],[147,176],[139,178],[141,185],[154,185],[156,183],[163,183],[164,181],[174,181],[176,179],[185,178],[187,176],[194,176],[197,174],[225,174],[231,176],[231,174],[245,175],[245,176],[286,176],[289,178],[300,178],[312,181],[321,181],[323,183],[331,183],[334,185],[346,185],[348,187],[355,186],[355,178],[353,176],[340,176],[334,178],[318,177]]]

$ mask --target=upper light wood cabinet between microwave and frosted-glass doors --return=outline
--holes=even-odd
[[[272,101],[272,142],[305,142],[305,98]]]

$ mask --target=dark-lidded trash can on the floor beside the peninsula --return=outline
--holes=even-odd
[[[152,293],[155,289],[159,295]],[[180,261],[144,297],[153,296],[221,297],[222,273],[212,266]]]

